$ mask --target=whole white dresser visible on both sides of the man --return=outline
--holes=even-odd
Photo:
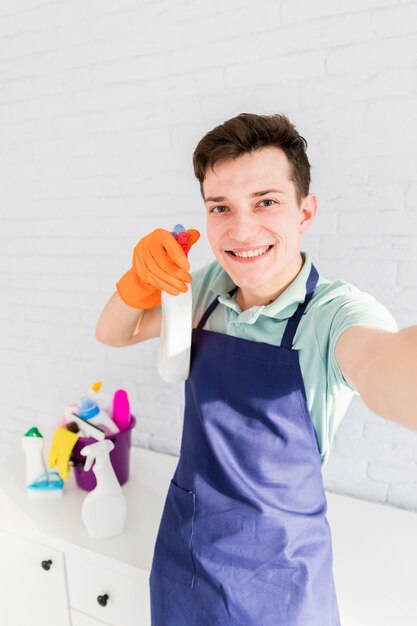
[[[133,448],[126,531],[93,540],[73,476],[62,500],[34,502],[18,452],[0,467],[1,626],[149,626],[149,572],[177,457]],[[326,495],[342,626],[415,626],[417,514]]]

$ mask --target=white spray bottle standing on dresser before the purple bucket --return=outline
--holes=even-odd
[[[81,517],[92,539],[106,539],[120,535],[125,528],[127,507],[122,488],[114,473],[109,453],[114,443],[105,439],[81,450],[86,457],[84,470],[94,463],[97,486],[85,497]]]

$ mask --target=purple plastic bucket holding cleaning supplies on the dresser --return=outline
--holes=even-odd
[[[110,461],[114,469],[114,473],[117,476],[117,480],[121,485],[124,485],[129,479],[129,465],[130,465],[130,448],[132,445],[132,430],[136,425],[136,419],[133,415],[130,416],[130,426],[126,430],[122,430],[119,433],[112,433],[106,435],[106,439],[110,439],[114,443],[114,448],[110,452]],[[94,465],[88,470],[84,471],[85,456],[81,454],[81,450],[85,446],[89,446],[92,443],[96,443],[97,439],[93,437],[79,437],[75,444],[71,461],[74,466],[75,482],[80,489],[85,491],[92,491],[97,482],[94,475]]]

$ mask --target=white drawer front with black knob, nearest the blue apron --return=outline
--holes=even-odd
[[[122,575],[72,555],[66,557],[66,565],[72,609],[111,626],[150,625],[148,581]]]

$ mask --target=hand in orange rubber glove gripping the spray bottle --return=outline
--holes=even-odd
[[[200,233],[187,230],[188,250]],[[132,267],[116,285],[121,299],[137,309],[152,309],[161,304],[161,290],[177,296],[191,282],[190,263],[169,230],[157,228],[143,237],[133,250]]]

